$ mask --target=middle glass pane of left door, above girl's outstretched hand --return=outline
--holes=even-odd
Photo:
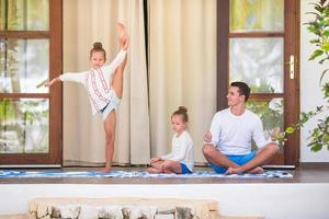
[[[48,39],[0,39],[0,92],[46,93],[36,88],[48,79]]]

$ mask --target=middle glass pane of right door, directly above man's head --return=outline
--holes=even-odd
[[[253,93],[282,93],[283,38],[230,38],[229,71]]]

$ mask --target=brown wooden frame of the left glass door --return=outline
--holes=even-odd
[[[0,31],[0,38],[49,39],[49,79],[63,71],[63,1],[49,0],[49,31]],[[63,164],[63,89],[52,87],[49,93],[0,93],[1,99],[21,97],[49,100],[49,151],[48,153],[0,153],[1,165]]]

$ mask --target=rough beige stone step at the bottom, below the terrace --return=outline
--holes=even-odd
[[[219,217],[217,201],[175,198],[37,198],[30,218],[202,218]]]

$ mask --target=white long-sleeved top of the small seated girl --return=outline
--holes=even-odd
[[[194,166],[193,160],[193,140],[190,134],[184,130],[180,136],[173,135],[171,153],[160,157],[162,160],[178,161],[186,165],[192,172]]]

